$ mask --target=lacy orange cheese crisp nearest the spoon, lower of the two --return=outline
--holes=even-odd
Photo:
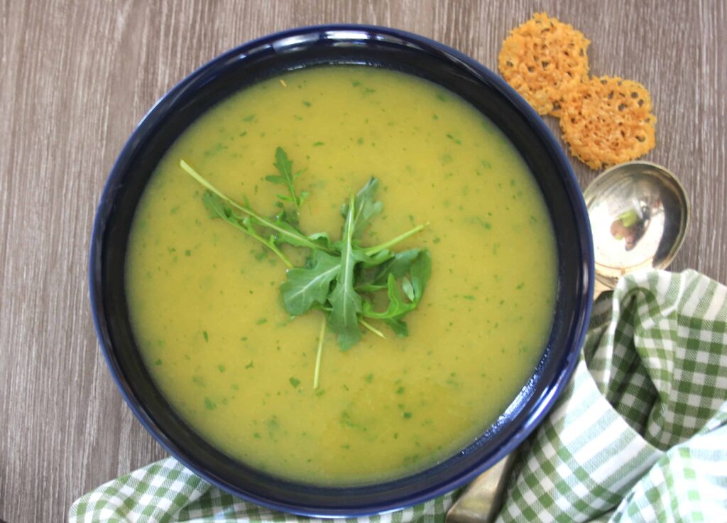
[[[561,106],[563,140],[591,169],[633,160],[656,145],[651,96],[637,81],[593,78],[566,93]]]

